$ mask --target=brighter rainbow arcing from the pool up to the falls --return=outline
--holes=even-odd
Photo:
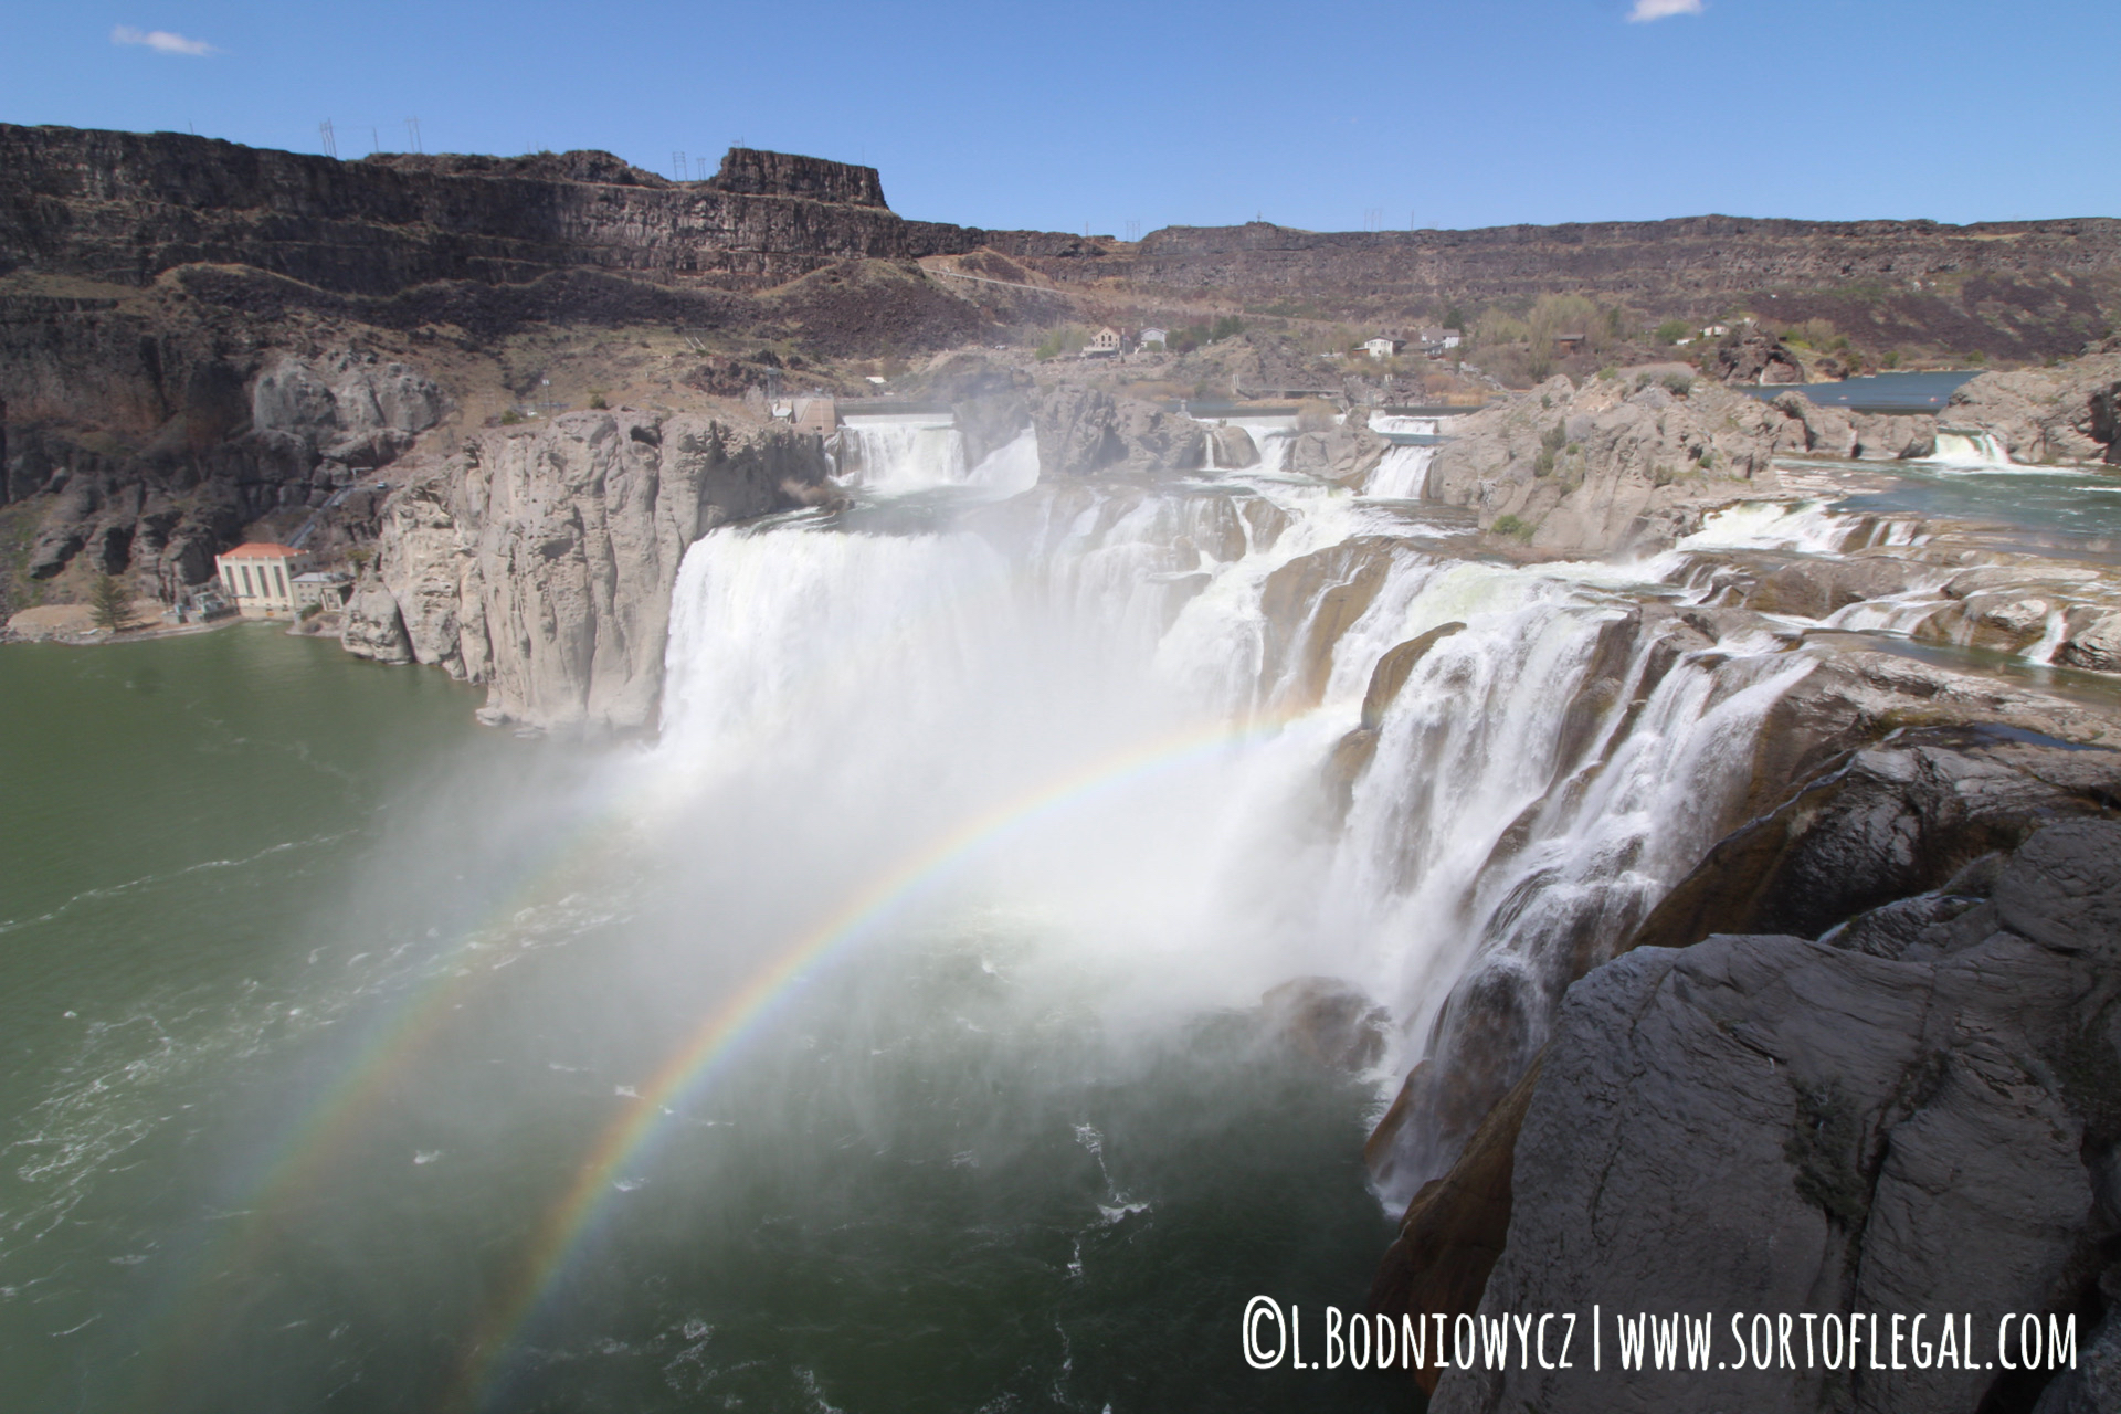
[[[694,1028],[655,1075],[638,1085],[638,1094],[630,1096],[626,1109],[590,1147],[573,1183],[537,1225],[515,1276],[505,1287],[507,1295],[492,1306],[467,1342],[460,1374],[443,1408],[452,1412],[477,1410],[492,1397],[490,1386],[503,1374],[503,1357],[558,1289],[560,1278],[596,1227],[596,1219],[617,1191],[619,1170],[649,1149],[662,1121],[689,1092],[706,1083],[717,1062],[725,1060],[759,1028],[774,1003],[795,994],[836,952],[870,933],[880,920],[1003,835],[1105,791],[1133,784],[1143,776],[1175,770],[1251,738],[1270,736],[1281,725],[1283,719],[1273,717],[1194,729],[1107,757],[1088,770],[1048,782],[906,854],[795,937]]]

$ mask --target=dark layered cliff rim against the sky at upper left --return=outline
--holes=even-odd
[[[146,284],[225,263],[397,295],[590,267],[764,288],[848,257],[974,250],[984,235],[895,216],[870,167],[749,148],[713,182],[670,182],[609,153],[337,161],[189,134],[0,125],[0,273]]]

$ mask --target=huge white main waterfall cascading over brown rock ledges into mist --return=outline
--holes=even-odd
[[[906,464],[870,445],[865,466]],[[1432,449],[1396,452],[1417,454],[1400,475]],[[995,456],[1016,469],[997,483],[1035,471],[1029,435]],[[1381,1174],[1402,1202],[1517,1079],[1565,986],[1737,825],[1752,738],[1811,659],[1710,644],[1665,608],[1686,553],[1447,560],[1393,513],[1262,471],[1037,483],[937,534],[717,530],[679,577],[660,755],[829,801],[823,837],[861,856],[1171,731],[1230,736],[1209,772],[997,844],[967,888],[1073,920],[1052,965],[1092,956],[1143,1007],[1360,986],[1391,1015],[1379,1085],[1427,1062]],[[1735,509],[1690,547],[1845,534],[1818,507]],[[1425,634],[1366,714],[1379,661]]]

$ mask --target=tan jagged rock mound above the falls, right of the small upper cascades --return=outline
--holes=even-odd
[[[1436,449],[1430,496],[1536,549],[1654,549],[1697,530],[1705,505],[1773,494],[1773,458],[1807,447],[1805,420],[1788,407],[1678,369],[1582,388],[1550,377],[1466,418]]]

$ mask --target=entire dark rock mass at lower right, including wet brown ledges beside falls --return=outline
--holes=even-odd
[[[1780,708],[1763,742],[1807,780],[1567,990],[1542,1058],[1410,1202],[1374,1308],[1714,1312],[1729,1342],[1733,1310],[1977,1302],[1989,1331],[2006,1310],[2076,1312],[2093,1346],[2121,1295],[2121,750],[1930,727],[1801,767],[1790,738],[1816,755],[1924,700],[1862,668],[1833,664]],[[2036,704],[1951,706],[2028,721]],[[2051,725],[2100,721],[2113,736],[2098,712]],[[2102,1369],[2057,1380],[2055,1408]],[[1657,1408],[1673,1378],[1436,1374],[1438,1410]],[[1684,1378],[1748,1410],[1975,1414],[2038,1393],[1987,1369]]]

